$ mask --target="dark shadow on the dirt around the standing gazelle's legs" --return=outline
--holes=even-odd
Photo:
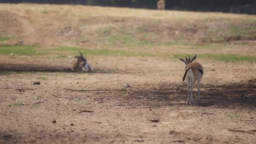
[[[250,80],[249,80],[250,81]],[[197,102],[197,91],[193,91],[195,105],[201,107],[256,107],[256,79],[254,82],[229,83],[225,85],[201,85],[201,104]],[[162,83],[152,87],[123,89],[128,93],[123,101],[132,105],[149,105],[155,107],[187,105],[187,87],[175,83]],[[139,99],[139,101],[138,101]],[[136,102],[138,101],[138,102]]]

